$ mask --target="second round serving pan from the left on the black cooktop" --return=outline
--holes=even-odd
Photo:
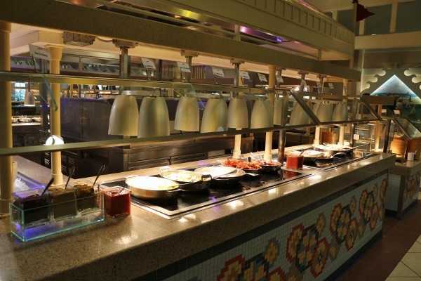
[[[179,188],[184,191],[198,191],[209,188],[212,175],[201,174],[196,171],[170,170],[163,171],[161,177],[180,183]]]

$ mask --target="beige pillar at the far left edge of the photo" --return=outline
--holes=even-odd
[[[11,70],[11,23],[0,21],[0,70]],[[0,81],[0,148],[13,148],[12,136],[12,88],[10,81]],[[0,157],[0,217],[8,216],[8,204],[12,202],[13,157]]]

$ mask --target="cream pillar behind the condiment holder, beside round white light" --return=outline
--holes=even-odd
[[[62,58],[62,47],[48,46],[51,54],[50,73],[60,74],[60,60]],[[51,84],[51,90],[58,109],[55,110],[52,100],[50,100],[50,124],[51,135],[61,136],[60,129],[60,84]],[[63,174],[61,170],[61,152],[51,152],[51,176],[54,178],[53,185],[60,185],[63,183]]]

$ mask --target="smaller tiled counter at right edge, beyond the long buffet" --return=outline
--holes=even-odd
[[[396,162],[389,169],[386,214],[402,218],[418,202],[421,160]]]

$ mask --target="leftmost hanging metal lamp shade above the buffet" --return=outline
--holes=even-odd
[[[138,136],[138,103],[134,96],[119,95],[109,115],[109,135]]]

